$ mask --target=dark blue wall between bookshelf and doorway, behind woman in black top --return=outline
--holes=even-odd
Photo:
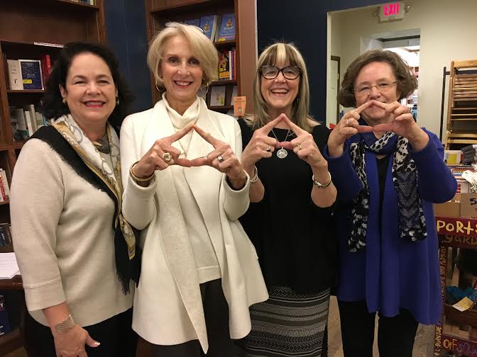
[[[258,52],[276,40],[294,42],[309,73],[311,112],[325,120],[327,105],[327,13],[390,0],[257,0]]]

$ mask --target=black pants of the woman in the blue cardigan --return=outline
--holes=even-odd
[[[373,357],[375,312],[368,312],[366,301],[338,300],[341,339],[345,357]],[[379,314],[378,348],[380,357],[412,357],[418,322],[407,310],[395,317]]]

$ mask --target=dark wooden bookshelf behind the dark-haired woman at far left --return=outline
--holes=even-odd
[[[50,55],[55,62],[62,45],[71,41],[106,42],[104,22],[104,0],[95,5],[82,4],[73,0],[21,0],[2,1],[0,6],[0,168],[5,169],[7,181],[24,141],[13,140],[9,107],[23,107],[40,102],[44,90],[12,90],[6,60],[40,60]],[[0,222],[10,222],[9,201],[0,204]],[[5,250],[6,249],[6,250]],[[2,247],[1,251],[11,251]],[[21,277],[0,280],[0,293],[16,291],[16,300],[25,312]],[[14,294],[13,294],[14,295]],[[9,309],[9,306],[6,306]],[[0,356],[24,344],[23,329],[13,329],[0,336]]]

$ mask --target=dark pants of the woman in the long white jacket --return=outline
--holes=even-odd
[[[202,305],[204,306],[205,325],[209,351],[204,354],[199,340],[171,346],[153,345],[154,357],[231,357],[234,342],[229,332],[229,305],[222,291],[221,279],[200,284]]]

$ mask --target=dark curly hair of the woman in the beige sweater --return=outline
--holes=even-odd
[[[133,94],[128,88],[126,81],[119,73],[119,64],[113,52],[104,45],[88,42],[69,42],[62,48],[60,56],[55,61],[55,65],[46,83],[45,96],[43,96],[41,111],[47,119],[58,118],[61,115],[69,114],[70,108],[66,106],[60,94],[60,85],[66,88],[66,77],[70,70],[71,63],[75,56],[82,53],[92,53],[101,57],[109,67],[114,80],[114,85],[118,90],[119,105],[116,105],[113,113],[109,115],[109,123],[116,129],[121,128],[128,108],[133,102]]]

